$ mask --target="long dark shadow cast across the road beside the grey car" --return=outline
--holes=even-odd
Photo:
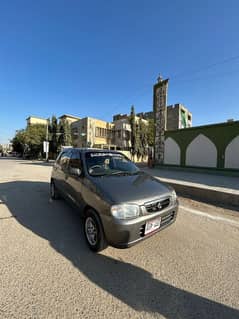
[[[46,239],[95,285],[136,311],[167,319],[239,318],[236,309],[155,279],[123,260],[90,252],[80,215],[62,200],[49,200],[48,189],[45,182],[1,183],[0,200],[23,227]]]

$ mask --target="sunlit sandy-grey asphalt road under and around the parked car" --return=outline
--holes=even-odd
[[[0,159],[0,318],[239,318],[239,214],[180,199],[175,224],[91,253],[51,167]]]

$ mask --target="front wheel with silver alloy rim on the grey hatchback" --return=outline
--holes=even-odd
[[[89,248],[99,252],[107,247],[104,229],[98,214],[88,209],[84,218],[84,234]]]

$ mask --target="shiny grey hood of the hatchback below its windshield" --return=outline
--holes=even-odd
[[[114,204],[142,205],[172,191],[170,186],[144,172],[138,175],[94,177],[92,182],[105,200]]]

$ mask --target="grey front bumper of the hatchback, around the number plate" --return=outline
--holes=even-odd
[[[151,237],[155,233],[175,222],[178,203],[161,212],[140,216],[131,220],[116,220],[112,216],[103,216],[102,223],[107,242],[116,248],[128,248],[139,241]],[[161,224],[155,231],[145,234],[146,223],[161,217]]]

